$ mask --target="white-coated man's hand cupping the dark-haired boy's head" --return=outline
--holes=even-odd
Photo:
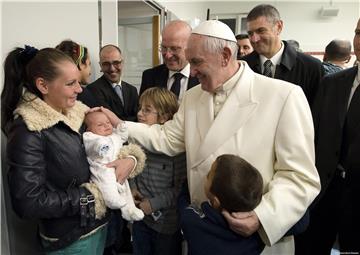
[[[230,229],[242,236],[250,236],[260,228],[260,221],[254,211],[233,212],[222,211],[225,219],[229,223]]]

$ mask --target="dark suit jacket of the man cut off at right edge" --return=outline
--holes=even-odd
[[[347,113],[351,87],[357,74],[357,67],[345,69],[324,77],[313,109],[315,126],[316,167],[321,180],[320,198],[334,177],[339,157],[343,126]],[[360,132],[359,132],[360,133]],[[353,140],[348,162],[348,187],[359,186],[360,182],[360,135]]]

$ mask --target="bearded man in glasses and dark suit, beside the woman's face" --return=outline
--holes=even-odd
[[[123,64],[121,50],[117,46],[102,47],[100,68],[104,75],[88,85],[88,89],[99,105],[110,109],[123,120],[136,121],[138,93],[134,86],[121,80]]]

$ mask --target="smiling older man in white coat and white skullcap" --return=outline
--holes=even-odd
[[[206,200],[204,180],[217,156],[245,158],[262,174],[262,201],[252,212],[224,216],[241,235],[258,231],[263,254],[293,254],[293,236],[283,236],[320,191],[311,112],[299,86],[254,73],[236,54],[227,25],[201,23],[186,49],[200,85],[164,125],[126,122],[129,138],[153,152],[186,151],[191,200],[198,204]]]

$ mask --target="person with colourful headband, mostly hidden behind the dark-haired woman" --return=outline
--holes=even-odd
[[[78,94],[77,99],[89,107],[99,106],[93,94],[86,88],[90,83],[91,60],[89,50],[72,40],[64,40],[55,47],[72,58],[80,72],[79,81],[83,91]]]

